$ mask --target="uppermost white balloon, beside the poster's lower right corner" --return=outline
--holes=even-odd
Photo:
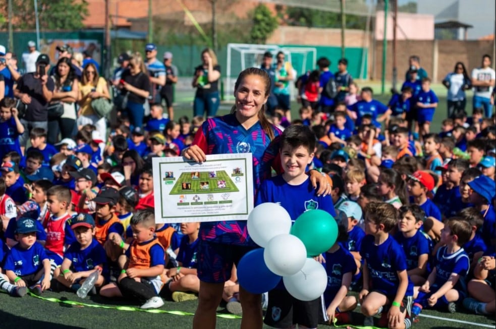
[[[289,234],[291,216],[280,205],[266,202],[253,208],[248,216],[247,227],[252,240],[265,248],[274,236]]]

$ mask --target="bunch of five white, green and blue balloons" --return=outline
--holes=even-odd
[[[248,216],[248,233],[262,248],[252,250],[238,264],[239,284],[260,294],[275,288],[281,278],[286,290],[299,300],[318,298],[327,286],[327,274],[312,257],[336,242],[338,225],[322,210],[309,210],[292,225],[278,204],[264,203]]]

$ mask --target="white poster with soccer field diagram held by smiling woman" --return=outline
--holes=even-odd
[[[253,209],[251,153],[153,158],[157,223],[246,220]]]

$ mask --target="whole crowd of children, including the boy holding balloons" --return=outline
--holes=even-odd
[[[455,312],[463,304],[494,313],[494,115],[456,113],[433,133],[438,99],[428,78],[410,70],[411,81],[386,105],[371,88],[359,91],[346,65],[340,60],[333,104],[319,105],[317,71],[300,81],[300,119],[270,113],[284,130],[284,173],[262,183],[256,203],[279,202],[293,220],[318,207],[335,216],[339,234],[317,257],[328,276],[321,299],[298,301],[281,283],[268,292],[265,322],[350,323],[358,302],[366,325],[381,314],[378,325],[390,328],[409,328],[423,308]],[[90,293],[131,298],[144,309],[162,306],[164,297],[197,298],[200,225],[155,223],[151,159],[181,155],[202,123],[171,121],[152,105],[143,127],[131,130],[119,118],[107,140],[84,125],[74,140],[52,146],[44,129],[33,128],[24,150],[15,101],[3,98],[0,289],[21,297],[77,292],[94,275]],[[328,175],[330,195],[315,195],[309,169]],[[235,278],[225,285],[231,306]]]

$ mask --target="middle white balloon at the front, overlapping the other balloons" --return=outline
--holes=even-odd
[[[272,273],[287,276],[305,265],[307,250],[301,240],[291,234],[274,236],[263,250],[263,260]]]

